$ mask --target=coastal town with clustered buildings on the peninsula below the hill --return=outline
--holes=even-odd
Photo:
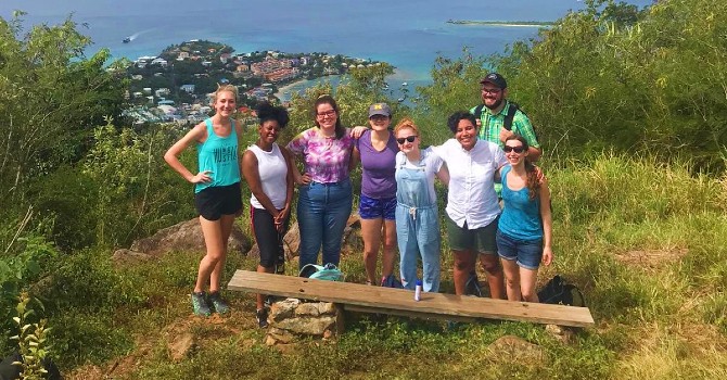
[[[237,86],[240,105],[247,107],[275,99],[279,86],[369,64],[368,60],[328,53],[235,53],[222,43],[190,40],[129,64],[126,115],[137,124],[195,124],[207,117],[209,94],[219,85]]]

